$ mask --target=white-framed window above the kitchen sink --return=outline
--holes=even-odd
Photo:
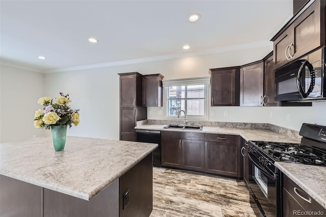
[[[183,110],[187,117],[206,117],[206,89],[207,85],[167,87],[167,116],[177,116]]]

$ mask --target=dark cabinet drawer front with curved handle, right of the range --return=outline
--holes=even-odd
[[[305,209],[309,211],[323,211],[326,210],[314,199],[312,199],[301,187],[295,184],[286,175],[283,175],[283,187],[286,191]],[[307,199],[307,201],[305,199]]]

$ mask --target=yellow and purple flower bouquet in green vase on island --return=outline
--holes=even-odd
[[[67,127],[79,124],[79,109],[72,110],[69,106],[69,94],[60,93],[53,103],[50,97],[42,97],[38,103],[43,105],[43,110],[35,112],[34,126],[36,128],[51,129],[52,142],[56,151],[65,147]]]

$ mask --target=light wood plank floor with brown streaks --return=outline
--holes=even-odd
[[[150,217],[158,216],[256,217],[242,180],[154,167]]]

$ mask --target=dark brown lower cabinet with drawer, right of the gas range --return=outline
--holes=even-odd
[[[283,216],[324,216],[324,209],[301,187],[283,174]],[[305,211],[309,211],[306,212]]]

